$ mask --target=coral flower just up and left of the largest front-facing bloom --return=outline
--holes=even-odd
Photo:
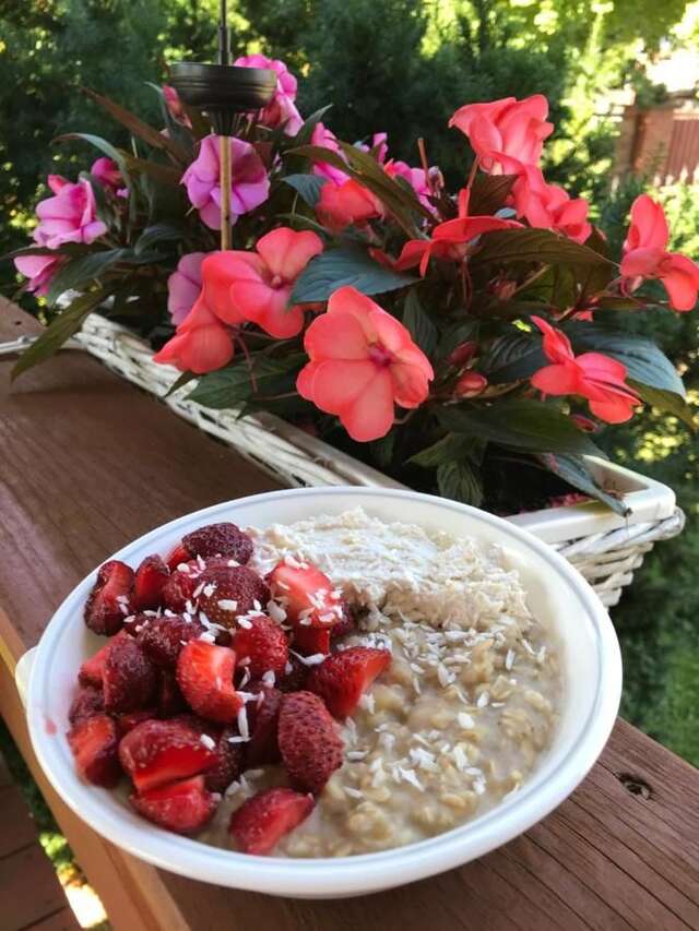
[[[296,279],[323,250],[319,236],[280,227],[258,239],[256,252],[214,252],[202,263],[208,303],[225,323],[257,323],[271,336],[300,333],[304,311],[287,307]]]

